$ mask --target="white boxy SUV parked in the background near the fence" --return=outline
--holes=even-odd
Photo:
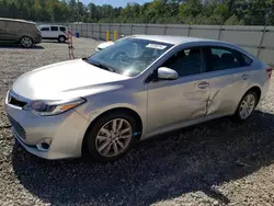
[[[57,39],[65,43],[68,39],[68,28],[64,25],[39,25],[43,39]]]

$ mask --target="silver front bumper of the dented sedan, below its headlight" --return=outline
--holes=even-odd
[[[10,122],[15,138],[28,152],[50,160],[81,156],[82,139],[89,122],[75,110],[56,116],[39,116],[9,104],[7,98],[5,112],[12,119]],[[47,151],[36,148],[44,138],[52,139]]]

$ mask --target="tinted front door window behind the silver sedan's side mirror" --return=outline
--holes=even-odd
[[[174,69],[180,77],[202,71],[202,52],[198,47],[180,50],[169,58],[163,67]]]

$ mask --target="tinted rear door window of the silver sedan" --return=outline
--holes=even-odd
[[[204,48],[206,57],[206,71],[232,69],[244,66],[241,53],[224,47]]]

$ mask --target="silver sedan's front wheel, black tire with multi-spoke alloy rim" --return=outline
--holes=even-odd
[[[121,123],[119,121],[123,119],[122,127],[117,131],[116,136],[113,131],[110,131],[113,128],[113,121],[115,119],[116,119],[116,128],[119,127]],[[122,131],[125,131],[128,128],[128,126],[130,126],[130,130],[123,134]],[[102,128],[106,130],[110,129],[107,131],[109,134],[106,134],[105,130],[102,133]],[[136,137],[133,136],[136,129],[137,129],[136,121],[127,113],[113,112],[111,114],[101,116],[94,124],[92,124],[92,126],[90,126],[84,137],[85,149],[88,151],[89,157],[93,158],[96,162],[110,162],[119,159],[126,152],[128,152],[132,149],[132,147],[136,144]],[[118,133],[121,135],[119,136],[121,139],[119,137],[117,137]],[[127,136],[128,138],[124,139],[124,137]],[[121,150],[118,153],[116,153],[114,150],[115,145],[116,145],[116,151]],[[122,146],[124,146],[124,149],[122,148]],[[109,153],[106,151],[109,151]]]

